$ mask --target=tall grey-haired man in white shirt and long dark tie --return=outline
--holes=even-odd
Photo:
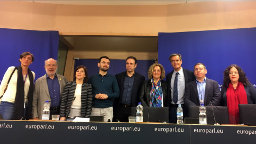
[[[181,67],[181,54],[173,53],[170,55],[169,60],[173,70],[166,75],[169,100],[167,106],[169,106],[170,123],[177,123],[177,108],[179,104],[183,108],[183,117],[188,117],[188,109],[183,105],[183,94],[186,84],[195,81],[196,78],[193,71]]]

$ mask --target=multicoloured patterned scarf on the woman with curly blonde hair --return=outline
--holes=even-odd
[[[163,91],[161,86],[161,79],[155,84],[154,79],[151,79],[152,88],[150,92],[151,102],[150,107],[162,107]]]

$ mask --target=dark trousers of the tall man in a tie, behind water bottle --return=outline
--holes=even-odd
[[[185,105],[181,105],[183,109],[183,118],[188,117],[188,109],[185,107]],[[169,107],[169,123],[177,124],[177,108],[178,105],[172,105]]]

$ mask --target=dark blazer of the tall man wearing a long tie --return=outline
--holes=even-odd
[[[188,69],[183,69],[183,74],[184,74],[184,77],[185,77],[185,86],[189,83],[189,82],[192,82],[192,81],[195,81],[196,80],[196,77],[194,75],[194,72],[191,71],[191,70],[188,70]],[[166,75],[166,80],[167,80],[167,87],[168,87],[168,103],[167,103],[167,107],[170,106],[170,103],[172,102],[172,97],[171,97],[171,93],[172,93],[172,90],[171,90],[171,80],[172,80],[172,74],[173,74],[173,71],[172,70],[168,75]]]

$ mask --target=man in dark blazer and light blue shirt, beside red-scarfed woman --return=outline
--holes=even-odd
[[[205,106],[220,105],[220,89],[216,81],[206,78],[206,67],[203,63],[196,63],[194,66],[194,74],[196,81],[186,85],[184,94],[185,106],[200,106],[204,103]]]

